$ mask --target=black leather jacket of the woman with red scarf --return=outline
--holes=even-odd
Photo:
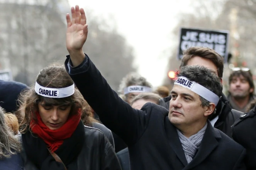
[[[15,137],[22,143],[21,134]],[[34,163],[27,158],[23,144],[20,155],[25,170],[38,170]],[[121,170],[121,167],[114,148],[102,131],[85,126],[85,143],[76,160],[69,165],[69,169]]]

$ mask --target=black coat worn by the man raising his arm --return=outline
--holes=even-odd
[[[124,102],[108,85],[91,60],[67,72],[102,123],[129,148],[131,170],[245,170],[245,149],[208,122],[200,148],[187,164],[168,110],[146,103],[141,110]]]

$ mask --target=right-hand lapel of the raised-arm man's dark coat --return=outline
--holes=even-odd
[[[205,160],[205,158],[207,158],[218,146],[219,142],[217,141],[217,138],[221,138],[220,133],[217,129],[212,127],[208,120],[208,125],[205,130],[205,134],[203,135],[199,150],[193,160],[183,170],[191,169],[203,162],[203,160]]]

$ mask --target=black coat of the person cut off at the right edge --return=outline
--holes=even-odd
[[[247,150],[246,166],[256,170],[256,106],[241,117],[232,126],[233,139]]]

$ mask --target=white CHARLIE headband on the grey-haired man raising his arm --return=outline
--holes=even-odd
[[[209,89],[203,87],[196,82],[188,80],[186,77],[178,77],[174,84],[180,85],[191,90],[192,92],[197,93],[202,98],[208,100],[211,103],[214,103],[215,105],[217,105],[220,100],[219,96],[217,96],[214,92],[210,91]]]

